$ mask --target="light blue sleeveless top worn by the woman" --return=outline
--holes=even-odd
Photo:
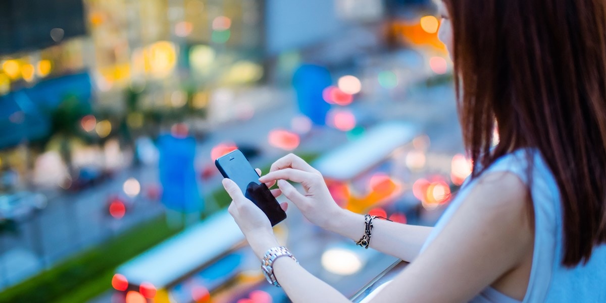
[[[534,158],[531,196],[534,203],[534,252],[530,281],[524,296],[527,302],[595,302],[606,303],[606,245],[594,247],[587,264],[573,268],[562,266],[562,209],[558,186],[550,169],[535,149],[519,149],[496,160],[488,172],[511,172],[528,184],[527,153]],[[444,215],[427,238],[425,247],[441,232],[478,179],[465,181]],[[606,182],[606,180],[604,180]],[[498,193],[495,193],[498,194]],[[520,303],[487,287],[472,303]]]

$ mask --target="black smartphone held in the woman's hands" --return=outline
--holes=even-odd
[[[224,178],[229,178],[238,184],[244,197],[263,210],[271,226],[286,218],[286,212],[282,210],[265,183],[259,182],[259,175],[239,149],[218,158],[215,160],[215,165]]]

